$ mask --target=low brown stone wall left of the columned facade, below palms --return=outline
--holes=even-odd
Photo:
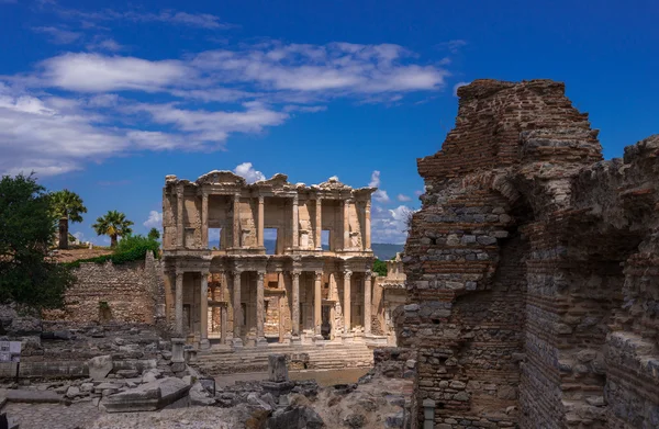
[[[155,324],[163,313],[163,273],[159,260],[114,266],[82,262],[74,270],[75,284],[65,293],[65,309],[44,312],[44,320]],[[105,304],[103,304],[105,303]]]

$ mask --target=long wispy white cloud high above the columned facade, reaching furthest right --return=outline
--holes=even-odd
[[[252,82],[266,91],[315,97],[438,90],[447,70],[409,64],[414,55],[399,45],[326,45],[270,42],[244,49],[197,55],[192,65],[226,82]]]

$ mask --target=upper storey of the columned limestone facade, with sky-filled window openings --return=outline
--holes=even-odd
[[[211,171],[193,182],[167,176],[164,250],[170,255],[372,256],[375,191],[353,189],[336,178],[293,184],[280,173],[252,184],[231,171]]]

